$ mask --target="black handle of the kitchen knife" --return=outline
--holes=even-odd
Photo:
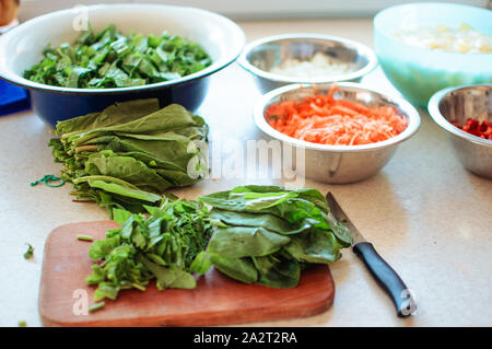
[[[411,315],[417,309],[411,293],[396,271],[377,254],[373,244],[367,242],[355,244],[353,252],[364,260],[371,274],[389,294],[398,311],[398,316]]]

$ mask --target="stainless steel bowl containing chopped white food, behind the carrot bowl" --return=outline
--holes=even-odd
[[[353,62],[359,68],[347,74],[316,79],[298,79],[269,72],[272,67],[289,58],[307,60],[316,53]],[[253,74],[261,93],[292,83],[359,82],[377,66],[376,55],[367,46],[337,36],[316,34],[278,35],[255,40],[246,45],[237,61]]]

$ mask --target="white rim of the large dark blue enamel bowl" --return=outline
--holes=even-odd
[[[212,11],[208,11],[208,10],[203,10],[203,9],[199,9],[199,8],[191,8],[191,7],[179,7],[179,5],[171,5],[171,4],[162,4],[162,3],[148,3],[151,5],[155,5],[155,7],[163,7],[163,8],[177,8],[177,9],[194,9],[196,11],[199,12],[203,12],[207,13],[209,15],[215,16],[216,19],[221,19],[223,21],[229,22],[229,24],[234,27],[237,32],[237,34],[241,34],[241,40],[242,43],[238,45],[239,49],[237,49],[236,53],[232,53],[231,56],[229,57],[229,59],[216,67],[213,67],[213,62],[210,67],[213,67],[211,69],[202,69],[200,71],[197,71],[192,74],[189,75],[185,75],[180,79],[175,79],[175,80],[169,80],[169,81],[164,81],[164,82],[157,82],[157,83],[151,83],[151,84],[145,84],[145,85],[141,85],[141,86],[131,86],[131,88],[112,88],[112,89],[75,89],[75,88],[63,88],[63,86],[55,86],[55,85],[47,85],[47,84],[42,84],[42,83],[36,83],[30,80],[24,79],[23,77],[15,73],[15,77],[19,78],[19,80],[14,80],[14,79],[9,79],[5,78],[4,75],[2,75],[2,70],[0,69],[0,79],[12,83],[14,85],[17,85],[20,88],[24,88],[27,90],[34,90],[34,91],[39,91],[39,92],[46,92],[46,93],[54,93],[54,94],[63,94],[63,95],[113,95],[113,94],[131,94],[131,93],[141,93],[141,92],[152,92],[152,91],[156,91],[156,90],[163,90],[166,88],[174,88],[174,86],[178,86],[178,85],[183,85],[186,84],[190,81],[194,80],[198,80],[198,79],[202,79],[206,78],[208,75],[211,75],[226,67],[229,67],[230,65],[232,65],[242,54],[244,46],[246,45],[246,35],[244,34],[244,31],[232,20],[227,19],[224,15],[221,15],[219,13],[212,12]],[[89,5],[89,8],[93,8],[93,9],[97,9],[97,8],[105,8],[105,7],[112,7],[112,5],[118,5],[118,7],[139,7],[141,5],[140,3],[115,3],[115,4],[93,4],[93,5]],[[43,18],[49,18],[52,13],[59,13],[59,12],[63,12],[63,11],[71,11],[71,9],[65,9],[65,10],[59,10],[59,11],[55,11],[55,12],[50,12],[47,14],[43,14],[39,16],[36,16],[35,19],[43,19]],[[33,20],[35,20],[33,19]],[[31,21],[31,20],[30,20]],[[30,21],[26,21],[24,23],[28,23]],[[23,23],[23,24],[24,24]],[[13,27],[12,30],[10,30],[9,32],[14,32],[16,31],[19,27],[21,27],[23,24],[20,24],[15,27]],[[9,33],[5,33],[5,35],[8,35]],[[1,45],[2,40],[0,37],[0,45]]]

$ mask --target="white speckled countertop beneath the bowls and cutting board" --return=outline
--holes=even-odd
[[[239,22],[248,40],[313,32],[372,45],[371,20]],[[364,83],[395,92],[378,69]],[[237,65],[213,75],[198,114],[212,136],[258,139],[251,107],[259,96]],[[461,167],[444,132],[421,110],[419,132],[401,144],[376,176],[350,185],[306,181],[331,190],[344,211],[413,291],[419,311],[401,319],[390,299],[351,249],[330,268],[333,306],[317,316],[248,326],[491,326],[492,182]],[[104,209],[74,203],[70,185],[30,183],[59,174],[46,143],[50,128],[33,112],[0,117],[0,326],[39,326],[37,294],[47,235],[58,225],[107,219]],[[212,139],[213,141],[213,139]],[[226,156],[226,154],[224,154]],[[175,193],[188,198],[232,188],[247,179],[206,179]],[[265,182],[263,182],[265,183]],[[267,183],[265,183],[267,184]],[[25,260],[25,243],[35,247]]]

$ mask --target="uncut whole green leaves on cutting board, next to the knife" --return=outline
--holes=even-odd
[[[210,261],[243,282],[295,287],[306,265],[336,261],[352,241],[316,189],[239,186],[199,200],[220,222],[207,247]]]

